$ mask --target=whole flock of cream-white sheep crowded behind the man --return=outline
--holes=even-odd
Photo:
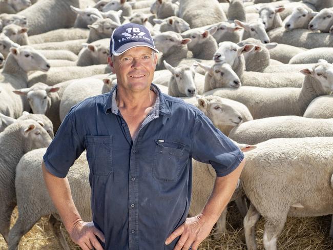
[[[248,249],[257,249],[260,216],[264,248],[273,250],[287,216],[333,214],[333,0],[219,2],[0,1],[0,233],[9,249],[50,214],[55,237],[69,249],[41,160],[70,108],[116,84],[107,56],[124,22],[151,31],[161,91],[197,106],[244,151],[232,200]],[[84,153],[68,178],[90,221],[88,175]],[[214,179],[193,160],[190,215],[201,211]],[[216,232],[225,231],[226,213]]]

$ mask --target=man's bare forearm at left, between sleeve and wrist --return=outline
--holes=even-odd
[[[73,202],[68,179],[67,177],[58,178],[52,175],[46,169],[44,161],[41,166],[50,197],[63,220],[67,231],[70,231],[76,222],[81,221],[81,217]]]

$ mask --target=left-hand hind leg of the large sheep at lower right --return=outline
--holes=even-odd
[[[244,218],[244,233],[245,233],[246,246],[248,250],[257,249],[257,244],[255,239],[255,227],[259,218],[260,218],[259,212],[255,208],[255,206],[251,203]]]

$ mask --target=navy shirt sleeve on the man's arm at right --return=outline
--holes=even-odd
[[[211,120],[197,113],[194,125],[192,157],[210,163],[218,177],[233,172],[244,159],[239,147],[218,130]]]

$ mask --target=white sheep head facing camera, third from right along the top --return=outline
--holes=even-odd
[[[284,7],[272,7],[270,5],[262,6],[259,10],[259,16],[265,26],[265,30],[273,30],[282,27],[282,19],[280,12],[284,11]]]

